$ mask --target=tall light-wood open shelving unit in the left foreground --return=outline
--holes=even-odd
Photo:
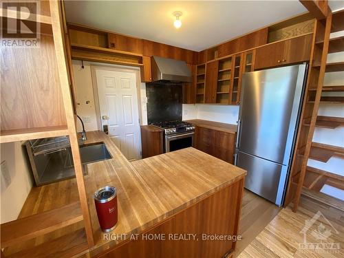
[[[39,208],[34,213],[19,215],[19,219],[1,224],[1,248],[4,248],[1,257],[47,257],[53,254],[72,257],[94,246],[69,87],[72,84],[69,76],[71,62],[67,61],[71,56],[65,49],[68,41],[65,38],[67,26],[63,24],[62,4],[61,1],[41,1],[44,14],[31,16],[34,19],[30,22],[41,28],[39,48],[13,47],[6,48],[2,53],[1,66],[6,62],[9,69],[1,84],[0,142],[67,136],[76,175],[77,187],[74,184],[74,188],[77,190],[72,197],[76,202],[58,206],[50,201],[48,210]],[[5,19],[25,17],[3,10],[1,14],[7,15]],[[74,47],[83,48],[80,45]],[[18,66],[17,63],[23,65]],[[38,63],[39,69],[36,66]],[[14,100],[16,105],[9,105]],[[32,189],[29,197],[34,195],[35,189]],[[50,195],[41,196],[48,197],[51,198]],[[27,199],[25,204],[34,206],[35,199],[32,200],[28,202]],[[23,249],[19,249],[19,246]]]

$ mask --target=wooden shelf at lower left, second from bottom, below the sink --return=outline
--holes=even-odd
[[[83,220],[80,202],[1,224],[1,248],[45,235]]]

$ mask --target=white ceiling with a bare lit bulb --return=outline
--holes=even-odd
[[[306,12],[288,1],[65,1],[67,21],[200,51]],[[173,27],[174,11],[182,28]]]

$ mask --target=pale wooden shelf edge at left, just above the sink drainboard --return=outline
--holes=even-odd
[[[69,131],[67,129],[67,126],[7,130],[1,131],[0,143],[68,135]]]

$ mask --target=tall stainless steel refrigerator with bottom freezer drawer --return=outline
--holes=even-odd
[[[245,188],[281,206],[299,125],[308,65],[247,72],[242,77],[235,164]]]

